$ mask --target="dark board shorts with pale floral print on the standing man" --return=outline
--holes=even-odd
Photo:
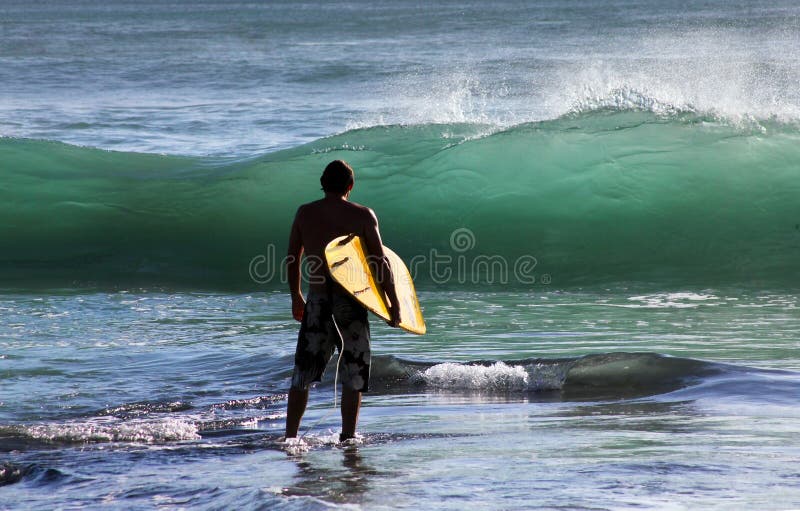
[[[366,392],[371,358],[367,309],[337,286],[328,293],[311,291],[297,336],[292,388],[305,390],[312,382],[321,381],[325,366],[342,342],[339,380],[348,389]]]

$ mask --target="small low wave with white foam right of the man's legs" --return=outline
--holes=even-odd
[[[800,391],[800,374],[658,353],[612,352],[565,358],[420,362],[373,358],[375,392],[410,389],[486,395],[555,394],[566,401],[647,398],[741,407],[773,406],[787,413]],[[330,382],[328,382],[330,383]]]

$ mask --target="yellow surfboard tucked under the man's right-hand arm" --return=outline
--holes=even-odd
[[[394,277],[394,287],[400,302],[400,328],[413,334],[425,333],[425,320],[419,308],[414,281],[411,279],[403,260],[391,249],[383,247]],[[325,261],[333,280],[364,307],[379,317],[389,320],[389,307],[383,291],[375,280],[369,264],[367,252],[361,238],[355,235],[340,236],[325,247]]]

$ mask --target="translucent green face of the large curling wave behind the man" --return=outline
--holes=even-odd
[[[418,286],[800,280],[792,126],[593,111],[489,133],[376,127],[238,161],[2,139],[0,277],[280,287],[294,212],[341,158]]]

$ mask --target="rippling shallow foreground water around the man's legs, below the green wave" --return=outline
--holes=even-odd
[[[797,296],[421,294],[373,321],[374,391],[339,446],[331,370],[286,445],[283,294],[6,295],[9,508],[796,505]],[[768,341],[766,339],[769,339]]]

